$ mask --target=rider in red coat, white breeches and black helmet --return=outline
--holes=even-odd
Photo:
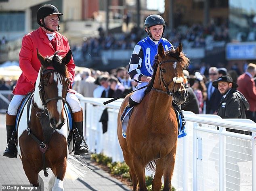
[[[6,131],[8,146],[4,152],[4,156],[10,158],[17,158],[17,132],[15,130],[15,122],[17,116],[17,109],[25,94],[34,88],[38,71],[41,64],[37,58],[37,50],[43,56],[53,55],[55,51],[59,51],[59,55],[65,55],[70,47],[67,38],[57,31],[59,31],[59,10],[50,4],[46,4],[38,9],[37,22],[40,25],[39,29],[32,31],[25,35],[22,39],[22,47],[19,53],[19,66],[22,74],[17,81],[17,85],[13,90],[15,94],[10,101],[8,111],[6,112]],[[72,84],[75,76],[75,64],[73,58],[67,64],[69,71],[69,79]],[[84,141],[83,136],[83,111],[80,101],[74,94],[74,91],[69,87],[67,93],[67,103],[69,103],[72,113],[73,121],[76,128],[73,129],[74,134],[74,153],[75,155],[84,154],[88,152],[88,146]]]

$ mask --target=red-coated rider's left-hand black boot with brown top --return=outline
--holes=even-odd
[[[8,115],[6,112],[6,136],[7,147],[4,151],[4,156],[9,158],[17,158],[17,132],[15,130],[16,115]]]

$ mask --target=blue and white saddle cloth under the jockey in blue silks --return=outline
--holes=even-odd
[[[134,106],[129,108],[126,111],[126,114],[124,115],[124,119],[122,121],[122,136],[125,139],[126,139],[127,125],[128,125],[129,119],[130,119],[130,115],[132,114],[133,108],[134,108]],[[178,138],[183,138],[187,135],[186,127],[184,127],[181,130],[182,120],[181,120],[181,117],[180,117],[180,113],[178,113],[178,111],[175,108],[174,108],[174,111],[176,113],[176,117],[177,117],[177,121],[178,121],[178,132],[179,132]]]

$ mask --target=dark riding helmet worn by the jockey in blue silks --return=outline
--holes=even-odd
[[[151,14],[149,15],[146,19],[145,19],[145,23],[144,23],[144,27],[145,27],[145,31],[146,29],[148,29],[149,27],[155,26],[155,25],[163,25],[164,29],[165,29],[165,22],[164,22],[164,18],[158,14]],[[146,31],[146,33],[148,33],[149,37],[152,38],[152,35],[150,33],[150,31],[148,30],[148,32]],[[164,30],[163,30],[163,34],[162,37],[164,35]]]

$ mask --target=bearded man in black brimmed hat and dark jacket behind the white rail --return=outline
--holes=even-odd
[[[243,94],[236,90],[238,84],[233,82],[230,76],[221,76],[218,81],[212,83],[212,86],[218,88],[222,94],[217,115],[222,118],[246,118],[245,111],[249,109],[249,103]],[[237,132],[234,129],[227,130]]]

